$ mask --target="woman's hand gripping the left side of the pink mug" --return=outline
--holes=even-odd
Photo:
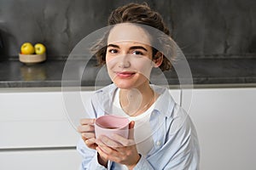
[[[84,143],[93,150],[96,150],[96,137],[94,130],[95,119],[81,119],[80,126],[78,127],[78,132],[81,133],[81,137]]]

